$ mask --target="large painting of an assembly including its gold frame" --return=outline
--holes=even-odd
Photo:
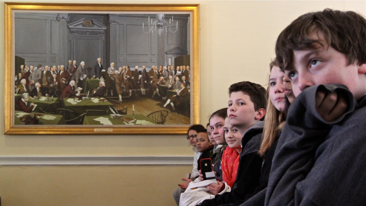
[[[198,4],[4,10],[5,134],[178,134],[198,123]]]

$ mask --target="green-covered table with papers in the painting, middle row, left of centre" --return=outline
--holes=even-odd
[[[62,100],[66,109],[74,111],[78,115],[85,113],[86,110],[109,111],[109,107],[113,106],[113,104],[108,102],[105,98],[99,97],[91,97],[88,100],[78,100],[77,98],[63,98]],[[101,100],[104,100],[104,102]]]

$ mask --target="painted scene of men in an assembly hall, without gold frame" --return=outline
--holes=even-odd
[[[190,15],[14,16],[15,125],[191,124]]]

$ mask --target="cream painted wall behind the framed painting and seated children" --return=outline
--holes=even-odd
[[[3,2],[0,1],[1,30],[4,28]],[[49,3],[39,0],[32,2]],[[248,80],[266,85],[268,64],[275,57],[276,38],[299,15],[324,8],[352,10],[363,15],[366,13],[364,0],[102,3],[200,4],[202,124],[206,124],[213,111],[227,106],[227,88],[232,83]],[[0,32],[2,39],[4,33]],[[0,62],[4,62],[3,42],[0,41]],[[3,72],[0,73],[0,79],[4,79]],[[0,95],[4,96],[2,81]],[[3,101],[0,101],[0,108],[4,108]],[[0,119],[3,118],[3,110],[0,110]],[[3,133],[4,127],[1,127],[0,134]],[[191,148],[186,141],[184,135],[0,135],[0,155],[191,155]],[[174,205],[172,191],[189,169],[188,166],[2,166],[0,196],[4,206]],[[123,203],[120,202],[122,200]],[[26,204],[29,202],[31,204]]]

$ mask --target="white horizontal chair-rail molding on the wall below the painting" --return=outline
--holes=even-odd
[[[0,156],[0,166],[192,164],[193,156]]]

